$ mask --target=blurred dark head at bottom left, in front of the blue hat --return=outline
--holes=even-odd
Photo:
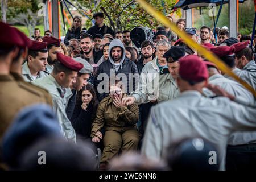
[[[38,164],[38,151],[46,152],[46,165]],[[19,170],[25,171],[92,171],[96,170],[96,154],[87,143],[67,142],[61,138],[39,140],[24,152]],[[42,161],[43,162],[43,161]]]

